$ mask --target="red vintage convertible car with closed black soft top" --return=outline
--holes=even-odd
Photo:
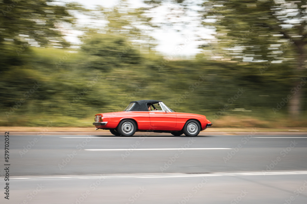
[[[162,101],[132,101],[121,112],[100,113],[93,123],[97,129],[110,130],[113,135],[132,136],[139,132],[167,132],[179,136],[194,137],[211,127],[206,116],[192,113],[177,113]]]

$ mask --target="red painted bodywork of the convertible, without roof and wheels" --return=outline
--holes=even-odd
[[[201,130],[205,130],[207,124],[211,124],[204,115],[177,112],[153,112],[153,111],[122,111],[112,113],[100,113],[99,122],[107,122],[106,125],[95,125],[100,129],[115,129],[123,119],[136,121],[138,130],[165,130],[181,131],[188,120],[199,121]]]

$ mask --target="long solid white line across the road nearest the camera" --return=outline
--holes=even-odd
[[[35,177],[10,177],[10,180],[58,180],[58,179],[114,179],[114,178],[182,178],[182,177],[205,177],[205,176],[270,176],[270,175],[306,175],[307,171],[287,172],[224,172],[224,173],[201,173],[201,174],[156,174],[156,175],[93,175],[93,176],[35,176]],[[0,178],[0,180],[4,178]]]

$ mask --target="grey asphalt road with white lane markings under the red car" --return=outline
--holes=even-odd
[[[307,135],[10,135],[9,154],[1,203],[307,203]]]

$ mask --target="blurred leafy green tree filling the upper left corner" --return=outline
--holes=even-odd
[[[75,3],[53,0],[0,1],[0,71],[27,63],[29,46],[69,47],[64,38],[73,25]]]

